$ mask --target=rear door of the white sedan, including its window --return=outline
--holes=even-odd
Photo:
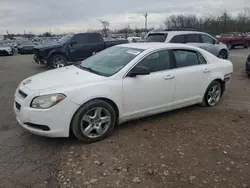
[[[211,74],[209,64],[197,51],[174,49],[173,56],[176,67],[174,106],[181,107],[201,101]]]

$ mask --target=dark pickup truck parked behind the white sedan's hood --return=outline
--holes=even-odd
[[[106,39],[99,33],[78,33],[63,36],[58,42],[35,48],[34,61],[59,68],[82,61],[108,47],[128,43],[128,40]]]

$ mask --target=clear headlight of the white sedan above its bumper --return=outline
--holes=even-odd
[[[61,102],[66,96],[63,94],[51,94],[35,97],[30,106],[37,109],[47,109]]]

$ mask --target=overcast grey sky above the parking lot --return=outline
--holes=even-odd
[[[159,27],[171,14],[231,14],[250,7],[250,0],[0,0],[0,33],[41,33],[48,30],[86,31],[101,28],[98,20],[108,20],[111,28]]]

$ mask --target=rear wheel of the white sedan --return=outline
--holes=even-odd
[[[218,81],[213,81],[207,88],[203,97],[202,106],[215,106],[220,101],[222,96],[222,85]]]

